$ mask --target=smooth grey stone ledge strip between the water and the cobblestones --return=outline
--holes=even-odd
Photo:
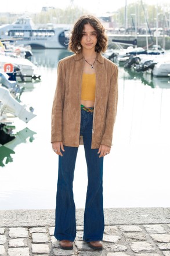
[[[170,223],[170,208],[105,208],[105,225]],[[84,209],[77,209],[83,225]],[[55,226],[55,209],[0,211],[0,227]]]

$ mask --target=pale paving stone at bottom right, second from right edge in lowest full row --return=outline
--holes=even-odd
[[[130,247],[134,253],[153,253],[155,251],[154,246],[146,241],[133,242]]]

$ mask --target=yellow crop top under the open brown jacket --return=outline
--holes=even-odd
[[[82,74],[81,99],[84,101],[95,101],[96,74]]]

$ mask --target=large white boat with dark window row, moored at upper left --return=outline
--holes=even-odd
[[[0,26],[0,39],[15,41],[31,48],[67,48],[70,26],[49,24],[36,27],[30,17],[20,17],[12,24]]]

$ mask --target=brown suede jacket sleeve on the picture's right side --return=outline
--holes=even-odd
[[[113,128],[117,114],[118,102],[118,67],[114,65],[114,73],[111,76],[110,91],[107,102],[106,126],[102,138],[102,145],[111,147],[113,140]]]

